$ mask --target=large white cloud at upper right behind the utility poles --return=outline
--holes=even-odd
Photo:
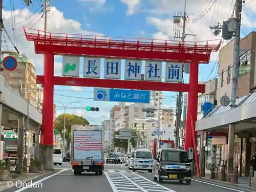
[[[181,26],[175,26],[173,22],[173,15],[176,13],[183,13],[184,11],[184,1],[166,1],[166,0],[152,0],[144,1],[143,3],[151,2],[153,9],[151,10],[141,10],[147,12],[146,21],[148,24],[155,26],[158,31],[153,34],[155,39],[173,39],[175,36],[174,28],[178,29],[180,36],[182,35]],[[186,25],[186,34],[192,34],[186,36],[187,44],[189,41],[204,41],[201,45],[206,44],[218,44],[221,39],[221,33],[219,36],[214,36],[212,31],[209,29],[210,26],[216,25],[218,22],[227,20],[232,15],[233,4],[232,0],[217,1],[214,6],[207,11],[207,13],[200,19],[193,20],[197,18],[200,13],[202,13],[209,1],[197,0],[197,1],[187,1],[187,15],[188,22]],[[256,22],[251,22],[245,10],[255,10],[256,1],[252,1],[245,5],[242,12],[242,25],[246,27],[255,27]],[[204,11],[205,12],[205,11]],[[249,11],[250,12],[250,11]],[[169,15],[169,16],[168,16]],[[246,16],[247,15],[247,16]],[[167,16],[167,17],[166,17]],[[194,36],[196,35],[196,37]],[[210,41],[209,41],[210,40]],[[193,44],[191,42],[190,44]],[[200,43],[199,43],[200,44]],[[198,44],[198,45],[199,45]],[[211,54],[211,60],[216,60],[218,53]]]

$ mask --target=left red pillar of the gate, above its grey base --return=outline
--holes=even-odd
[[[42,102],[42,145],[53,145],[53,77],[54,77],[54,55],[45,54],[44,63],[44,96]]]

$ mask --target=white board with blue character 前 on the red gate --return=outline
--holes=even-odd
[[[165,82],[182,82],[182,63],[166,62]]]

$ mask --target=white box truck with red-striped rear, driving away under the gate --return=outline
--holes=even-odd
[[[76,124],[71,126],[71,165],[74,175],[104,169],[104,128],[102,125]]]

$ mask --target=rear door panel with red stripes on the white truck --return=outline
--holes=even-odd
[[[101,160],[102,138],[101,131],[75,131],[74,130],[74,159],[75,160]]]

